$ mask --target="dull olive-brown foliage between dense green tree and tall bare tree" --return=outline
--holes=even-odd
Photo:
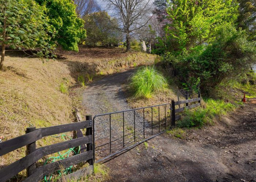
[[[88,46],[117,46],[121,41],[121,32],[113,28],[117,21],[107,12],[94,12],[83,17],[87,31],[86,45]]]

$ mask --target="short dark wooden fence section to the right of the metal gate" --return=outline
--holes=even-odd
[[[196,104],[192,104],[189,105],[189,103],[192,102],[198,102]],[[180,107],[180,108],[175,108],[175,106],[180,104],[185,104],[184,107]],[[198,98],[194,98],[194,99],[186,99],[186,100],[179,100],[179,101],[174,101],[172,100],[172,126],[175,126],[175,121],[181,118],[181,115],[177,115],[177,113],[182,112],[185,110],[185,108],[187,109],[192,109],[194,107],[198,107],[201,104],[201,96],[200,94],[198,95]]]

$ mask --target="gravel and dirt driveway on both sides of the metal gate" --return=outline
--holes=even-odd
[[[121,84],[130,74],[109,76],[89,86],[83,94],[87,110],[95,115],[109,108],[128,109]],[[94,103],[87,104],[89,100]],[[256,181],[255,100],[227,121],[188,130],[186,139],[162,134],[148,141],[148,147],[135,147],[105,163],[109,181]]]

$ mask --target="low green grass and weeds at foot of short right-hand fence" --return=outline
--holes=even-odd
[[[214,118],[226,115],[236,107],[223,100],[206,99],[206,108],[196,108],[195,110],[185,110],[184,117],[177,121],[177,127],[202,127],[204,124],[212,124]]]

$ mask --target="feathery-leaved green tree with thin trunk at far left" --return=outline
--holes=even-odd
[[[5,48],[34,50],[49,57],[54,49],[51,41],[54,28],[47,22],[43,10],[35,1],[0,0],[0,69],[3,67]]]

